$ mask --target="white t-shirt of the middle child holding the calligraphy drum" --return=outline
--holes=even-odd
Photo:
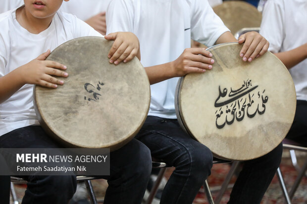
[[[144,67],[177,59],[191,39],[211,46],[229,31],[207,0],[112,0],[106,17],[107,33],[130,31],[139,38]],[[149,115],[176,118],[177,81],[151,85]]]

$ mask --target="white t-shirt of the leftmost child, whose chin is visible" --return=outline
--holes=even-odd
[[[15,10],[0,14],[0,77],[51,51],[65,41],[101,36],[75,16],[57,12],[48,29],[32,34],[20,26]],[[0,135],[29,125],[38,125],[32,100],[33,85],[25,84],[0,104]]]

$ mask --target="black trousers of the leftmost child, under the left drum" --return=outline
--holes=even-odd
[[[63,148],[41,126],[27,126],[0,136],[0,148]],[[110,175],[104,204],[141,204],[152,169],[150,150],[132,139],[110,153]],[[2,166],[0,166],[2,168]],[[9,176],[0,177],[0,204],[8,204]],[[67,204],[76,191],[76,176],[26,176],[22,204]],[[3,202],[3,198],[7,202]]]

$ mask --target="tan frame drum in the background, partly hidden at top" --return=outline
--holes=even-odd
[[[242,28],[260,27],[262,15],[257,8],[241,0],[224,1],[214,6],[213,11],[235,35]]]

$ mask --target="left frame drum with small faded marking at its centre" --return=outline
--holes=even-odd
[[[67,66],[57,88],[34,87],[42,127],[68,146],[110,148],[128,143],[145,122],[150,84],[140,61],[110,64],[113,41],[82,37],[55,48],[47,60]]]

